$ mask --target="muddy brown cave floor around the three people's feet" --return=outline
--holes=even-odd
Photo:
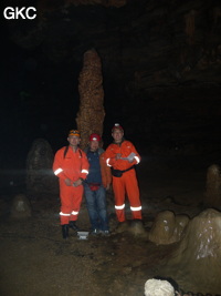
[[[188,214],[190,218],[202,211],[207,167],[214,159],[144,157],[137,175],[147,233],[160,211]],[[10,217],[10,211],[6,210],[10,208],[10,202],[7,201],[4,190],[0,224],[2,296],[144,295],[145,282],[160,275],[160,265],[175,246],[156,246],[147,237],[115,232],[117,222],[112,192],[107,194],[112,233],[109,236],[90,235],[88,239],[78,239],[72,229],[67,241],[62,238],[59,196],[45,194],[32,201],[32,216],[20,221]],[[129,220],[128,204],[126,214]],[[84,231],[90,228],[84,202],[78,226]],[[187,295],[183,283],[180,288]],[[199,287],[196,289],[192,293],[201,292]]]

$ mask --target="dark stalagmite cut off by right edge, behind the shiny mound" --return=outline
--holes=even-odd
[[[204,206],[221,210],[221,174],[220,166],[212,164],[207,171],[207,191],[203,200]]]

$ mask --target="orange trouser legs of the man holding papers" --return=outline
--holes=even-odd
[[[113,190],[115,195],[115,211],[119,222],[125,221],[125,195],[127,194],[133,220],[141,220],[141,204],[139,187],[135,170],[123,173],[123,176],[113,176]]]

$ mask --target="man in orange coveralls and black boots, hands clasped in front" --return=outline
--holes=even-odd
[[[69,237],[69,228],[78,231],[76,220],[83,196],[83,181],[88,174],[88,161],[78,144],[81,135],[72,130],[67,137],[69,145],[60,149],[54,157],[53,171],[60,182],[61,212],[63,238]]]

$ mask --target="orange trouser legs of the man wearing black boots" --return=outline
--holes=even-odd
[[[69,224],[70,221],[76,221],[78,217],[80,207],[82,204],[83,185],[77,187],[66,186],[63,180],[60,180],[60,198],[61,225]]]

